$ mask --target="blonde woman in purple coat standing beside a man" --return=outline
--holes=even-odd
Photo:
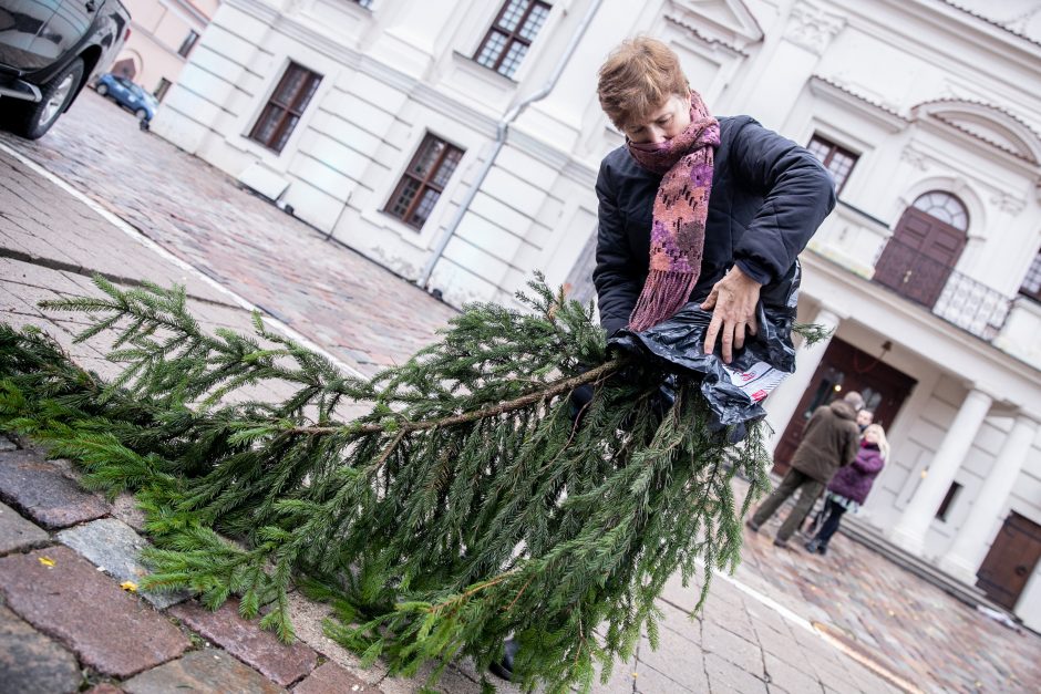
[[[843,514],[856,511],[864,504],[875,477],[885,467],[888,458],[889,443],[886,441],[886,432],[880,425],[872,424],[864,429],[856,459],[852,465],[839,468],[827,486],[824,495],[826,517],[816,537],[806,542],[808,551],[821,555],[827,551],[827,542],[838,530]]]

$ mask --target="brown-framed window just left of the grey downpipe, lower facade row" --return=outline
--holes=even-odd
[[[427,133],[384,210],[422,229],[462,158],[462,149]]]

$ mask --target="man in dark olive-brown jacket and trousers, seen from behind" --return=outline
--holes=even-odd
[[[863,406],[860,394],[851,391],[842,400],[817,407],[803,429],[803,439],[792,457],[792,467],[773,494],[745,522],[749,528],[757,532],[759,527],[781,508],[784,500],[798,490],[798,501],[784,519],[773,541],[777,547],[787,547],[789,538],[810,514],[813,503],[838,468],[849,465],[857,457],[860,429],[856,416]]]

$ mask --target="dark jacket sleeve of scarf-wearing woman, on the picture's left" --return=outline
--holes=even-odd
[[[625,216],[618,211],[606,162],[600,164],[596,190],[599,208],[597,266],[592,271],[592,283],[597,288],[600,325],[610,336],[629,324],[629,315],[640,296],[640,287],[633,275],[632,253],[626,239]]]

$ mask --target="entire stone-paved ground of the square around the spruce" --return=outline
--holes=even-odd
[[[328,257],[341,253],[357,263],[351,266],[352,273],[369,278],[359,289],[368,292],[364,296],[409,297],[393,308],[392,318],[414,328],[410,340],[415,346],[431,340],[434,329],[443,324],[431,318],[433,311],[443,311],[444,318],[451,314],[399,278],[369,267],[346,249],[324,245],[313,231],[236,190],[213,169],[138,133],[132,120],[109,106],[84,100],[40,144],[0,141],[42,160],[73,185],[93,185],[91,172],[102,165],[66,160],[63,151],[84,162],[90,162],[93,152],[104,160],[106,141],[97,138],[93,123],[126,121],[117,159],[165,156],[171,162],[154,164],[157,169],[182,167],[178,170],[184,172],[179,183],[154,179],[151,185],[157,190],[150,195],[164,197],[163,186],[169,183],[166,197],[206,200],[207,194],[224,186],[227,195],[218,204],[223,215],[266,219],[271,225],[268,246],[255,255],[209,257],[204,247],[195,256],[184,251],[193,238],[188,234],[171,231],[167,238],[148,227],[148,235],[247,300],[270,302],[292,328],[351,365],[369,370],[377,363],[352,356],[348,350],[355,348],[368,350],[367,354],[385,350],[389,360],[384,363],[411,353],[412,344],[381,342],[375,330],[355,333],[368,334],[369,342],[354,343],[354,348],[330,336],[343,324],[390,325],[391,309],[367,311],[340,296],[348,294],[352,284],[338,284],[338,300],[326,305],[324,313],[311,315],[308,294],[291,293],[292,280],[278,275],[277,267],[272,272],[282,278],[278,281],[284,282],[284,294],[254,288],[249,282],[262,283],[268,272],[264,263],[252,265],[254,260],[291,257],[293,276],[306,278],[324,272]],[[109,209],[134,225],[153,224],[133,205],[120,203],[138,199],[138,191],[130,187],[136,179],[123,182],[127,188],[121,188],[115,174],[97,175],[101,187],[92,195],[111,196]],[[185,182],[202,186],[194,198],[185,198]],[[190,209],[207,208],[208,204]],[[162,225],[154,224],[165,228],[165,217],[157,218]],[[185,226],[196,224],[192,219]],[[230,229],[229,238],[233,232],[248,236],[245,227]],[[279,229],[281,236],[276,234]],[[208,232],[204,236],[209,238]],[[243,246],[214,238],[207,242],[234,249]],[[301,249],[311,248],[316,239],[318,250],[312,258]],[[221,269],[225,262],[231,263],[231,270]],[[44,315],[35,307],[41,299],[96,293],[85,278],[91,270],[123,282],[184,283],[204,327],[248,329],[249,315],[234,298],[199,279],[192,268],[121,231],[0,149],[0,320],[42,325],[78,362],[111,375],[113,366],[103,359],[104,335],[74,344],[72,334],[83,327],[82,317]],[[282,300],[285,305],[279,303]],[[331,328],[323,332],[316,327],[319,322]],[[420,327],[426,332],[421,333]],[[121,582],[138,574],[134,552],[146,541],[140,536],[141,518],[133,503],[120,498],[109,504],[83,491],[68,463],[48,460],[40,450],[11,448],[0,436],[0,500],[6,504],[0,506],[0,690],[62,692],[94,686],[94,692],[186,687],[268,692],[292,687],[398,693],[416,691],[422,684],[421,680],[388,676],[380,665],[359,669],[357,659],[323,635],[320,624],[326,609],[299,595],[293,597],[292,609],[300,643],[289,648],[258,632],[255,624],[241,622],[234,604],[208,613],[183,595],[164,601],[165,597],[120,590]],[[697,587],[671,582],[660,600],[666,619],[659,649],[652,650],[645,639],[636,659],[617,664],[608,684],[597,685],[596,691],[801,694],[1041,688],[1041,639],[1035,634],[1006,629],[845,537],[833,541],[827,557],[810,556],[802,549],[779,550],[770,542],[774,528],[746,534],[744,562],[732,579],[717,578],[699,619],[686,614],[697,602]],[[102,609],[104,629],[97,619]],[[447,672],[440,690],[477,692],[478,681],[464,663]]]

